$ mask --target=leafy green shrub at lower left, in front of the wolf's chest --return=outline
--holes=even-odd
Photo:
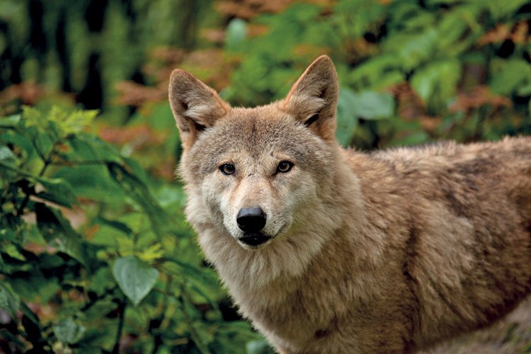
[[[0,307],[8,348],[34,353],[238,351],[212,270],[183,224],[181,189],[84,132],[93,111],[0,120]],[[154,189],[154,190],[153,190]]]

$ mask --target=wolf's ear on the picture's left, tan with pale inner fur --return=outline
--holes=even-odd
[[[230,110],[216,91],[183,69],[171,73],[169,100],[184,148],[191,147],[202,130]]]

